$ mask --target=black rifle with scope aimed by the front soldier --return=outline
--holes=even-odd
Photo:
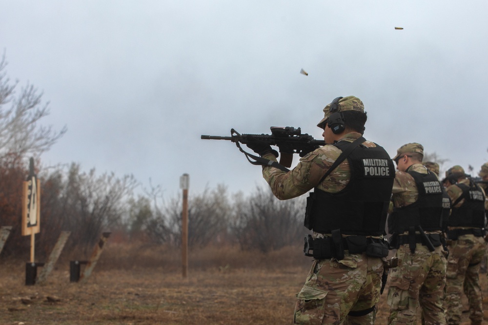
[[[244,153],[247,160],[253,165],[274,166],[280,168],[282,171],[288,172],[286,167],[291,166],[293,160],[293,153],[298,153],[300,157],[305,154],[314,151],[315,149],[324,146],[324,140],[315,140],[309,134],[302,134],[300,128],[276,127],[270,128],[271,134],[240,134],[236,130],[230,130],[230,136],[218,136],[218,135],[202,135],[200,138],[203,140],[230,140],[236,144],[239,150]],[[270,146],[278,146],[280,148],[280,163],[270,163],[268,159],[264,159],[250,153],[246,153],[240,143],[247,144],[254,141],[261,141]],[[255,161],[251,161],[249,157]],[[278,166],[279,165],[279,166]]]

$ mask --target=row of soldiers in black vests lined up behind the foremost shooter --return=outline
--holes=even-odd
[[[409,143],[393,158],[399,172],[393,184],[388,232],[390,246],[397,249],[396,257],[403,264],[390,271],[389,324],[411,323],[418,306],[423,324],[460,324],[464,292],[471,324],[481,325],[479,271],[487,252],[484,190],[488,163],[481,167],[478,183],[461,166],[449,168],[443,187],[436,191],[439,165],[422,163],[423,153],[421,144]],[[415,215],[409,213],[415,205],[420,207],[420,218],[405,222],[403,215]]]

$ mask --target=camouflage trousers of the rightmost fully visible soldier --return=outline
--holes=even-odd
[[[483,304],[479,284],[480,262],[485,256],[483,237],[462,235],[449,246],[446,279],[446,316],[448,324],[460,324],[463,306],[461,294],[468,297],[471,324],[482,324]]]

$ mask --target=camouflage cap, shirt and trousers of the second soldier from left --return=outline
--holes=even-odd
[[[397,159],[401,153],[408,152],[423,154],[423,147],[415,143],[402,146],[393,159]],[[420,163],[411,165],[407,171],[427,174],[427,169]],[[408,206],[419,197],[415,180],[408,172],[396,172],[392,192],[394,208]],[[390,215],[389,218],[391,217]],[[388,324],[414,324],[419,304],[422,324],[446,324],[443,309],[446,258],[442,246],[431,252],[427,246],[417,243],[415,252],[412,253],[409,245],[403,244],[397,249],[395,257],[402,259],[403,263],[402,266],[391,269],[388,277]]]

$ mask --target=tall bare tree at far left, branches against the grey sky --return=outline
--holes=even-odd
[[[42,104],[42,92],[27,85],[16,94],[19,81],[11,82],[5,72],[5,52],[0,61],[0,154],[39,156],[49,150],[67,129],[55,132],[52,126],[39,124],[49,115],[49,102]]]

